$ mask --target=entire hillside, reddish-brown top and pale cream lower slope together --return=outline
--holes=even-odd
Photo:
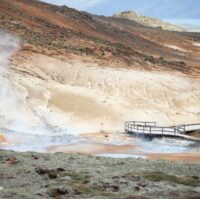
[[[0,0],[0,29],[1,127],[84,133],[120,131],[126,120],[200,121],[200,34],[37,0]]]

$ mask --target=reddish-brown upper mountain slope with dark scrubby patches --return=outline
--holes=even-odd
[[[193,45],[200,42],[197,33],[147,28],[37,0],[0,0],[0,28],[33,46],[58,54],[88,55],[104,64],[200,71],[200,48]]]

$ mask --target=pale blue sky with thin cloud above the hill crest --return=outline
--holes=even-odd
[[[156,18],[200,18],[200,1],[196,0],[43,0],[66,5],[97,15],[112,16],[116,12],[135,10],[141,15]],[[113,6],[114,5],[114,6]]]

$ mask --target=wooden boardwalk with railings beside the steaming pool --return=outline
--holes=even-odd
[[[176,137],[187,140],[200,141],[187,135],[187,132],[200,130],[200,124],[178,125],[169,127],[157,126],[156,122],[137,122],[130,121],[125,123],[125,132],[137,136],[145,137]]]

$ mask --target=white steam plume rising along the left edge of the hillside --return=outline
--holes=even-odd
[[[38,130],[39,121],[26,104],[20,79],[9,67],[12,55],[19,49],[19,38],[0,32],[0,128],[30,133],[34,128]],[[45,131],[41,125],[40,132]]]

